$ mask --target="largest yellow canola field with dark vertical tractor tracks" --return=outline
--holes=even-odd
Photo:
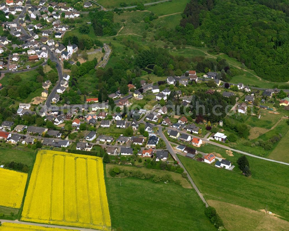
[[[102,159],[38,151],[21,220],[111,230]]]

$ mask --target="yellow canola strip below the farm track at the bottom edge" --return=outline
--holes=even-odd
[[[46,228],[41,226],[31,226],[15,223],[3,223],[0,231],[72,231],[71,229]],[[75,230],[77,231],[77,230]]]

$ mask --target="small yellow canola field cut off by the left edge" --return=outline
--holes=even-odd
[[[20,208],[27,181],[27,173],[0,168],[0,206]]]

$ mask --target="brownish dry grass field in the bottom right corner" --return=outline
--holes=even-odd
[[[255,211],[238,205],[207,201],[210,206],[216,208],[221,216],[224,226],[230,231],[285,231],[289,230],[288,221],[266,215],[264,212]],[[225,208],[225,209],[224,209]]]

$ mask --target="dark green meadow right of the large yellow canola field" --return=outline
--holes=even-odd
[[[193,189],[134,178],[106,178],[105,182],[114,229],[216,230]]]

